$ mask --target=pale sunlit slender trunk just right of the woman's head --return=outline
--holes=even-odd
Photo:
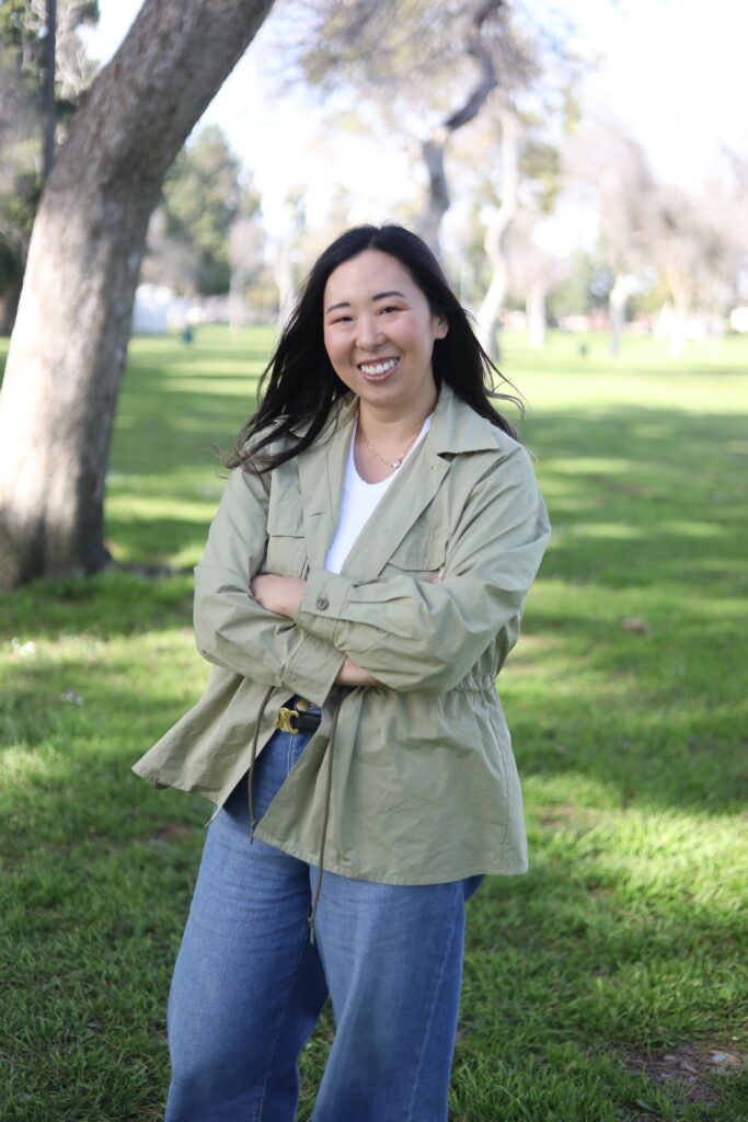
[[[487,223],[484,248],[491,263],[491,280],[478,309],[478,329],[483,349],[491,358],[499,355],[497,329],[509,284],[504,238],[517,213],[518,122],[511,109],[504,109],[501,120],[501,205]]]

